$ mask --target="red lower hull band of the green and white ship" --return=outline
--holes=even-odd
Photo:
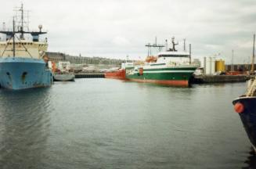
[[[136,81],[136,82],[146,82],[146,83],[154,83],[154,84],[160,84],[160,85],[171,85],[171,86],[181,86],[181,87],[187,87],[189,86],[189,81],[163,81],[163,80],[148,80],[148,79],[129,79],[129,81]]]

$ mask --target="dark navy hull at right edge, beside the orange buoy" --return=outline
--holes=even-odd
[[[256,151],[256,97],[240,97],[233,101],[233,105],[237,102],[243,104],[243,112],[239,113],[243,127],[247,131],[248,138]]]

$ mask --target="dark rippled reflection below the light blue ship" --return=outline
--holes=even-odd
[[[49,136],[49,90],[2,90],[0,95],[1,168],[37,168]]]

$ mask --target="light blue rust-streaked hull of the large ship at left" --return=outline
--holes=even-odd
[[[0,58],[0,85],[14,90],[47,87],[52,85],[52,71],[43,59]]]

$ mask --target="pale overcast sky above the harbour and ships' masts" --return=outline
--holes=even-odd
[[[20,0],[5,1],[0,23],[6,27]],[[145,58],[146,43],[165,44],[172,36],[193,57],[220,57],[248,63],[256,31],[255,0],[23,0],[30,10],[30,28],[48,31],[49,51],[78,56]],[[2,25],[2,24],[1,24]],[[2,27],[2,26],[1,26]]]

